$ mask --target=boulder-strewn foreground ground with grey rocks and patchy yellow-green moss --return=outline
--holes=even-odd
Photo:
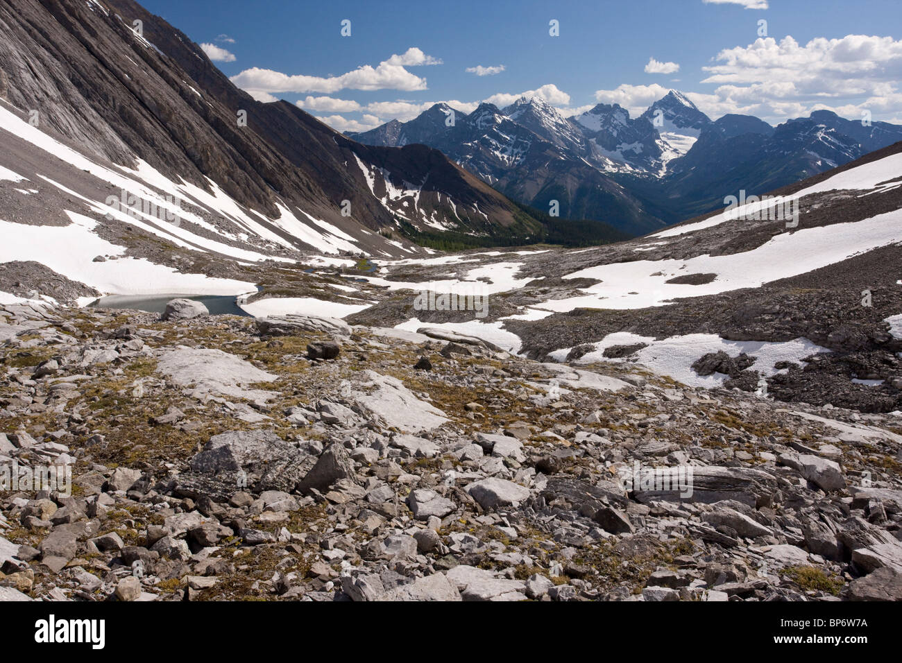
[[[898,412],[182,313],[0,308],[0,597],[902,599]]]

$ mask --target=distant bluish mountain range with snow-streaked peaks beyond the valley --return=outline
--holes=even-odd
[[[543,210],[557,200],[561,216],[643,235],[723,207],[740,190],[759,195],[896,143],[902,126],[826,110],[777,127],[752,115],[712,121],[671,90],[635,118],[618,104],[564,117],[522,97],[469,115],[437,104],[347,135],[383,147],[428,144],[509,198]]]

